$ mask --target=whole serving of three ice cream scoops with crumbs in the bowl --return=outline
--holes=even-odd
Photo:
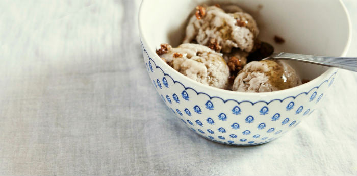
[[[239,92],[271,92],[301,84],[287,63],[264,60],[274,48],[257,39],[259,29],[235,5],[197,6],[186,27],[184,44],[162,44],[156,53],[188,78]]]

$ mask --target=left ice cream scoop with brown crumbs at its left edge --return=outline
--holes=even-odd
[[[166,44],[157,53],[172,68],[192,80],[222,89],[228,86],[230,70],[222,54],[207,46],[186,43],[172,48]]]

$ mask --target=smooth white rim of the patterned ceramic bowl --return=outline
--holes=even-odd
[[[142,0],[141,4],[140,4],[140,8],[139,8],[139,14],[138,14],[138,28],[139,28],[139,34],[140,34],[140,40],[141,40],[141,44],[144,46],[145,44],[147,44],[147,40],[145,38],[145,36],[143,35],[143,25],[142,25],[142,8],[144,6],[144,4],[146,4],[146,2],[149,2],[148,0]],[[342,9],[347,17],[347,25],[348,25],[348,38],[347,38],[347,42],[345,44],[345,47],[342,51],[342,53],[340,54],[341,57],[346,56],[348,49],[350,47],[351,44],[351,39],[352,39],[352,24],[351,24],[351,19],[350,16],[348,14],[347,8],[344,5],[344,3],[342,2],[342,0],[339,0],[339,3],[342,6]],[[144,44],[145,43],[145,44]],[[155,53],[152,49],[152,46],[150,45],[146,45],[146,50],[150,51],[151,53]],[[205,85],[202,83],[199,83],[197,81],[194,81],[186,76],[184,76],[184,74],[176,71],[175,69],[173,69],[172,67],[170,67],[169,65],[167,65],[162,59],[160,59],[160,57],[157,54],[154,54],[154,56],[151,56],[151,59],[154,59],[156,61],[158,61],[159,63],[161,63],[162,65],[165,65],[164,67],[166,67],[167,69],[169,69],[173,74],[175,74],[175,76],[177,77],[181,77],[181,80],[185,80],[190,82],[192,85],[194,86],[198,86],[198,87],[202,87],[203,89],[208,89],[210,91],[214,91],[216,93],[224,93],[224,94],[230,94],[233,96],[255,96],[255,97],[266,97],[266,96],[274,96],[276,94],[284,94],[284,93],[288,93],[291,94],[293,92],[296,92],[297,90],[300,89],[311,89],[311,87],[314,85],[320,85],[320,81],[321,80],[325,80],[326,78],[329,78],[329,76],[331,76],[331,74],[333,74],[334,72],[337,72],[338,68],[335,67],[331,67],[328,68],[325,72],[323,72],[322,74],[320,74],[320,76],[314,78],[313,80],[309,81],[308,83],[305,84],[301,84],[299,86],[295,86],[292,88],[288,88],[288,89],[284,89],[284,90],[277,90],[277,91],[272,91],[272,92],[238,92],[238,91],[232,91],[232,90],[225,90],[225,89],[220,89],[220,88],[216,88],[216,87],[212,87],[209,85]]]

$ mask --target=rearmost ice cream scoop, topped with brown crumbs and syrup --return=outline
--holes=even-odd
[[[222,8],[231,13],[217,6],[197,6],[188,22],[184,43],[197,42],[223,53],[230,53],[232,48],[250,52],[259,33],[256,21],[238,6]]]

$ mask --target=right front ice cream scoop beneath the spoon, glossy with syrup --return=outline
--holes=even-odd
[[[295,70],[283,61],[252,61],[238,73],[233,91],[271,92],[301,84]]]

